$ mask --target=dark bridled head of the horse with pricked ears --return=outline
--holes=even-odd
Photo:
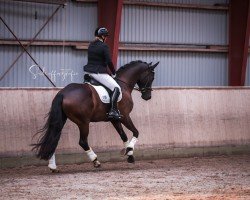
[[[151,64],[152,63],[148,64],[148,67],[141,74],[140,79],[137,81],[139,91],[142,94],[141,97],[146,101],[151,99],[152,83],[155,77],[154,69],[159,64],[159,62],[154,65]]]

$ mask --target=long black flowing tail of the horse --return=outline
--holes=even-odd
[[[37,150],[37,157],[40,159],[50,159],[56,150],[62,128],[67,120],[62,110],[62,102],[63,95],[58,93],[53,99],[46,124],[38,131],[43,134],[37,144],[33,144],[33,150]]]

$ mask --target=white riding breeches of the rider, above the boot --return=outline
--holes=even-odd
[[[94,79],[105,85],[107,88],[109,88],[111,91],[114,91],[115,87],[119,88],[119,91],[121,93],[121,87],[118,85],[118,83],[108,74],[95,74],[95,73],[88,73],[90,76],[92,76]]]

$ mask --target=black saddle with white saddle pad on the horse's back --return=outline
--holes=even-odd
[[[91,75],[85,74],[84,75],[84,83],[87,83],[94,87],[96,92],[98,93],[101,101],[105,104],[110,103],[110,95],[112,94],[112,91],[107,88],[105,85],[100,83],[99,81],[95,80]],[[118,102],[121,100],[122,95],[119,96]]]

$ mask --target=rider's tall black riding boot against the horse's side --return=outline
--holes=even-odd
[[[118,100],[119,95],[120,95],[119,88],[116,87],[110,97],[111,108],[108,113],[109,119],[115,119],[115,120],[121,119],[120,112],[117,109],[117,100]]]

